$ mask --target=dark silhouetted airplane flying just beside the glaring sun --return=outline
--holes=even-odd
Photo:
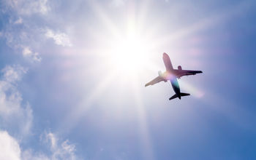
[[[195,75],[197,73],[203,73],[202,71],[189,71],[189,70],[183,70],[181,68],[181,65],[178,65],[178,69],[173,69],[173,65],[170,62],[170,57],[165,52],[162,55],[162,60],[165,63],[165,69],[166,71],[162,73],[161,71],[158,72],[157,78],[153,79],[152,81],[149,81],[147,84],[145,84],[145,87],[149,85],[154,85],[159,83],[160,81],[170,81],[172,84],[173,90],[176,93],[172,97],[169,98],[169,100],[173,100],[176,97],[181,100],[181,97],[190,95],[189,93],[182,93],[181,89],[178,85],[178,80],[181,79],[181,76],[189,76],[189,75]]]

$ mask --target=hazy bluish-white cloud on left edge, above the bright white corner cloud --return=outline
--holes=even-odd
[[[22,105],[23,98],[18,92],[17,82],[26,69],[19,66],[6,66],[1,70],[0,79],[0,123],[1,127],[15,129],[22,135],[30,132],[33,114],[29,103]]]

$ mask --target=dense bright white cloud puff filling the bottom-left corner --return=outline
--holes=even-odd
[[[20,160],[20,145],[6,131],[0,131],[0,159]]]

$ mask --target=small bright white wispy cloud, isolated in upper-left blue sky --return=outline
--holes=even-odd
[[[55,44],[61,45],[63,47],[67,46],[67,47],[71,47],[72,44],[69,40],[69,36],[67,36],[67,34],[65,33],[54,33],[52,30],[47,29],[45,32],[45,36],[48,39],[53,39],[55,41]]]

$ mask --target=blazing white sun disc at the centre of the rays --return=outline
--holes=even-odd
[[[123,36],[112,40],[108,60],[121,73],[135,76],[149,63],[150,44],[142,33],[129,29]]]

